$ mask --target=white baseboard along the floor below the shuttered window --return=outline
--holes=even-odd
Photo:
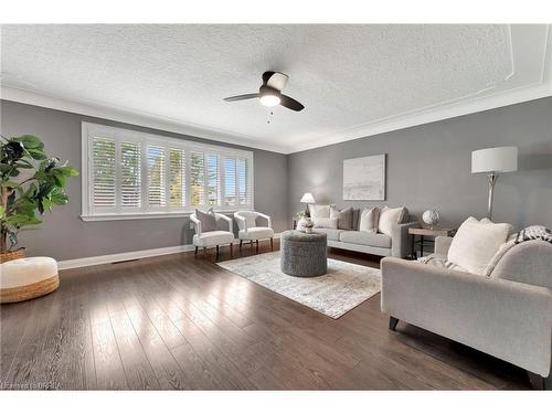
[[[280,234],[282,233],[274,234],[274,238],[279,238]],[[166,254],[192,252],[193,250],[194,250],[193,244],[184,244],[181,246],[150,248],[147,251],[136,251],[136,252],[106,254],[103,256],[72,258],[68,261],[57,262],[57,268],[60,270],[64,270],[64,269],[77,268],[77,267],[105,265],[107,263],[114,263],[114,262],[134,261],[137,258],[163,256]]]

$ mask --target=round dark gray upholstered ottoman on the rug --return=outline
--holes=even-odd
[[[314,277],[328,270],[326,234],[289,230],[282,234],[279,266],[289,276]]]

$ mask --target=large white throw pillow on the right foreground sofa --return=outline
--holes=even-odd
[[[487,265],[506,242],[512,226],[469,217],[456,232],[448,250],[448,261],[470,273],[485,275]]]

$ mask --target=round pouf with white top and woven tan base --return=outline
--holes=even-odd
[[[60,286],[57,263],[52,257],[17,258],[0,266],[2,304],[36,298]]]

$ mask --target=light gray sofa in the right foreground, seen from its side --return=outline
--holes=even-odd
[[[452,237],[437,237],[446,257]],[[534,388],[552,388],[552,244],[511,247],[490,277],[385,257],[381,309],[399,320],[527,370]]]

